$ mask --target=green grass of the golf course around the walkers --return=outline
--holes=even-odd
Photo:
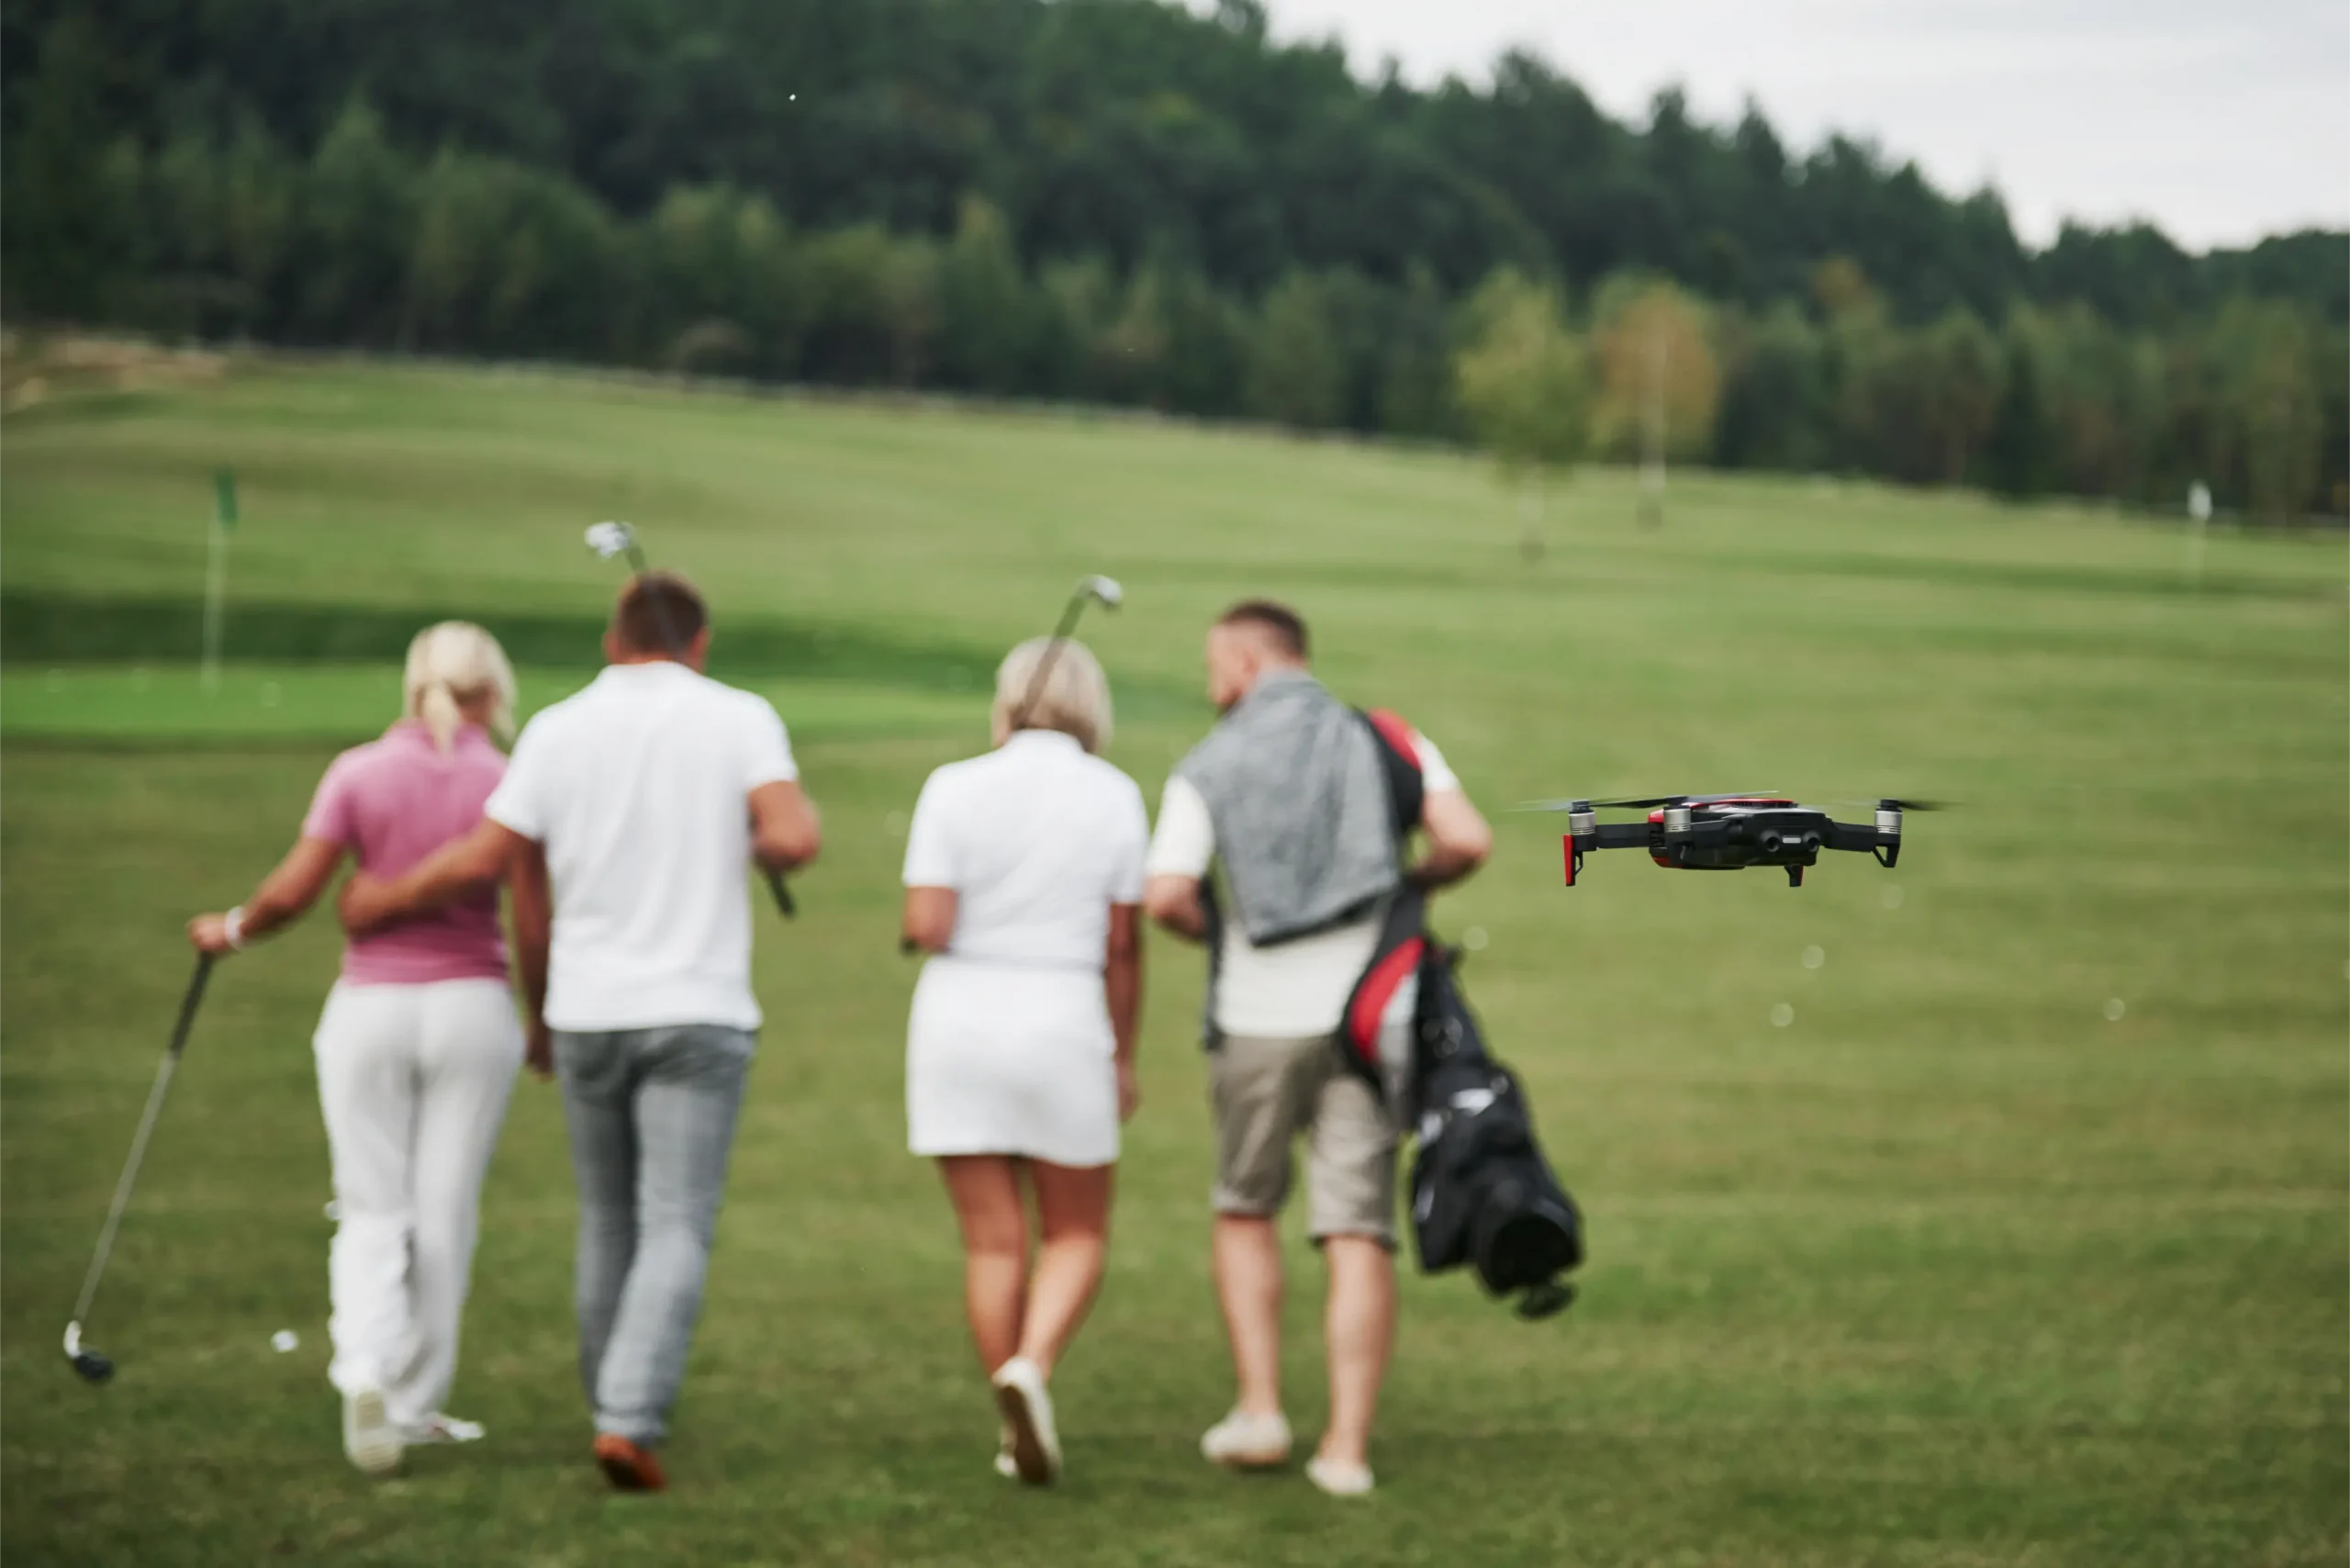
[[[235,661],[193,595],[244,484]],[[672,1448],[613,1500],[571,1371],[559,1107],[489,1180],[456,1410],[371,1486],[324,1385],[313,924],[212,990],[92,1324],[73,1291],[169,1027],[179,924],[244,893],[423,618],[526,701],[585,679],[630,517],[712,590],[827,811],[759,910],[768,1032]],[[1612,475],[1551,552],[1443,454],[1055,416],[381,369],[0,421],[0,1561],[9,1563],[2350,1563],[2350,552],[1802,482]],[[1206,1274],[1196,959],[1152,947],[1107,1293],[1060,1378],[1069,1479],[989,1469],[945,1199],[902,1152],[902,813],[1069,583],[1114,759],[1203,729],[1198,635],[1295,599],[1347,696],[1488,806],[1774,788],[1948,795],[1899,872],[1840,856],[1558,886],[1553,818],[1441,905],[1591,1213],[1523,1326],[1408,1279],[1382,1490],[1196,1458],[1229,1394]],[[1899,898],[1896,898],[1899,896]],[[1824,964],[1805,966],[1807,947]],[[1793,1023],[1772,1025],[1777,1006]],[[2117,1009],[2115,1009],[2117,1004]],[[2110,1013],[2120,1011],[2117,1018]],[[1290,1413],[1321,1425],[1300,1244]],[[294,1328],[301,1349],[273,1354]]]

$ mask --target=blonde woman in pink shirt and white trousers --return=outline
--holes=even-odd
[[[482,820],[505,773],[484,731],[512,736],[505,654],[482,628],[444,621],[409,644],[402,684],[404,717],[334,759],[277,870],[240,907],[188,922],[202,952],[235,952],[301,919],[343,856],[395,877]],[[343,1394],[343,1450],[385,1474],[407,1446],[482,1436],[442,1401],[482,1178],[524,1058],[496,889],[352,940],[313,1051],[334,1157],[329,1378]]]

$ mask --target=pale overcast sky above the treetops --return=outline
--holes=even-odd
[[[2063,216],[2146,216],[2190,249],[2350,228],[2350,0],[1264,5],[1358,75],[1396,56],[1419,85],[1483,82],[1520,45],[1636,122],[1671,82],[1711,122],[1753,96],[1795,150],[1835,129],[1946,193],[1995,183],[2030,244]]]

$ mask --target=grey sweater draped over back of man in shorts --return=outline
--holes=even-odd
[[[1267,672],[1175,766],[1208,802],[1234,917],[1257,947],[1403,884],[1379,743],[1302,670]]]

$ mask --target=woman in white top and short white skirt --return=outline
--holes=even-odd
[[[964,1232],[964,1307],[996,1392],[996,1469],[1060,1474],[1046,1380],[1093,1305],[1119,1124],[1135,1112],[1142,790],[1095,752],[1109,682],[1065,642],[996,670],[996,750],[935,773],[905,851],[914,987],[905,1103]],[[1036,1194],[1036,1267],[1022,1187]]]

